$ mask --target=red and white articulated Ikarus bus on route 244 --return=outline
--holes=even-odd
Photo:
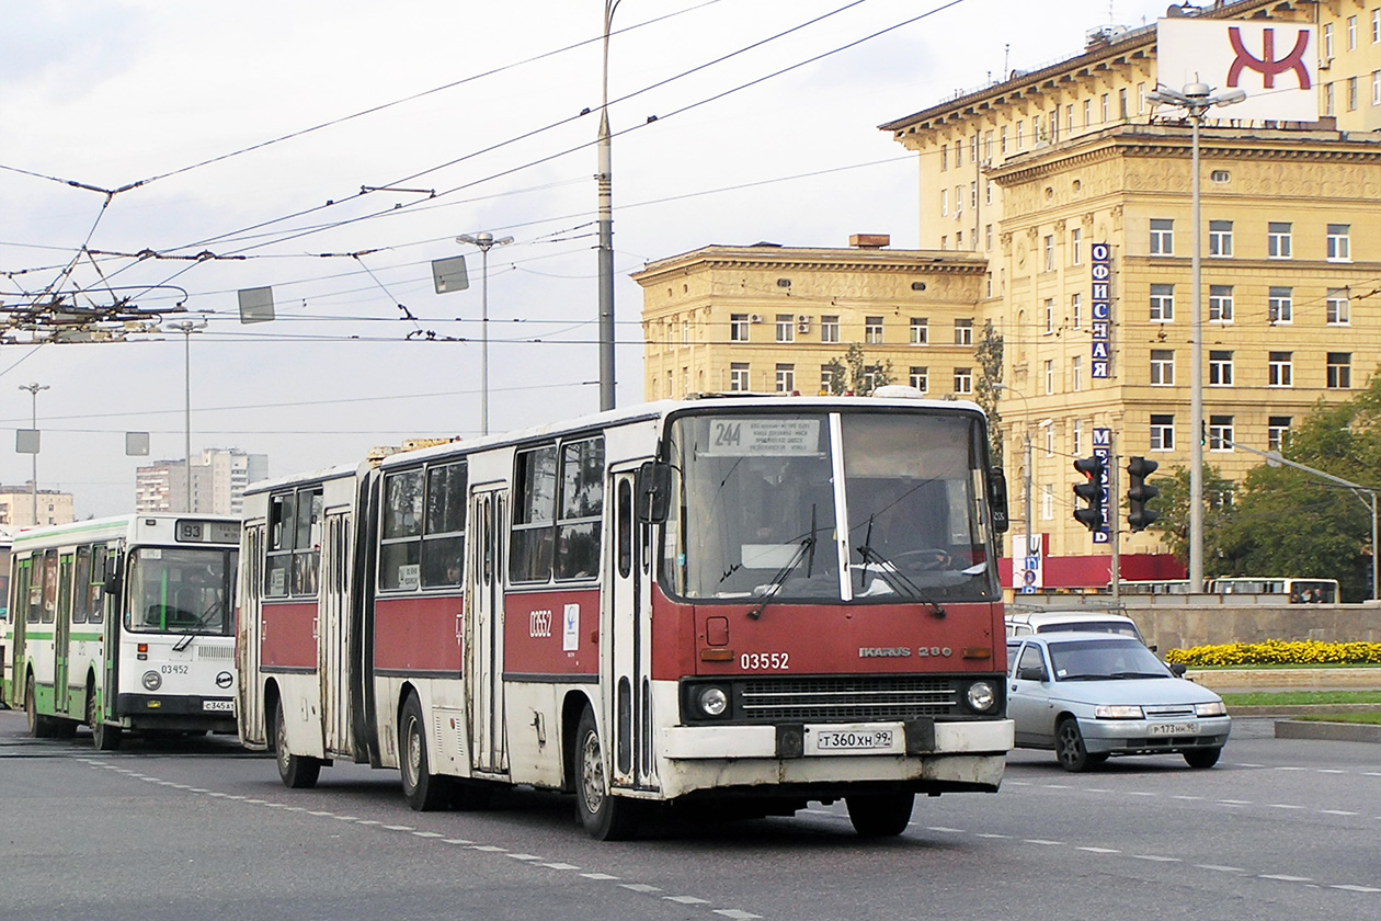
[[[289,787],[396,768],[418,811],[574,794],[865,835],[997,790],[1005,718],[982,411],[916,398],[659,402],[253,485],[240,740]]]

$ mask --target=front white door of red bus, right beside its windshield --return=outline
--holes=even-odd
[[[637,519],[634,468],[613,472],[613,540],[605,554],[601,634],[610,638],[601,663],[601,695],[612,750],[612,783],[656,788],[652,761],[650,529]]]

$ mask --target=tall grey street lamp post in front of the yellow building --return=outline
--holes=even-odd
[[[1177,106],[1189,116],[1190,126],[1190,221],[1189,237],[1189,587],[1203,591],[1204,584],[1204,367],[1203,367],[1203,218],[1199,193],[1199,128],[1208,109],[1242,102],[1247,94],[1229,90],[1213,95],[1207,83],[1189,83],[1184,91],[1157,87],[1146,99],[1157,105]]]

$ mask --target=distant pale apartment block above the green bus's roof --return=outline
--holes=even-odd
[[[239,515],[244,487],[268,476],[267,454],[246,454],[233,447],[210,447],[193,458],[163,460],[141,467],[134,481],[134,508],[141,512],[207,512]],[[188,507],[191,478],[191,507]]]

